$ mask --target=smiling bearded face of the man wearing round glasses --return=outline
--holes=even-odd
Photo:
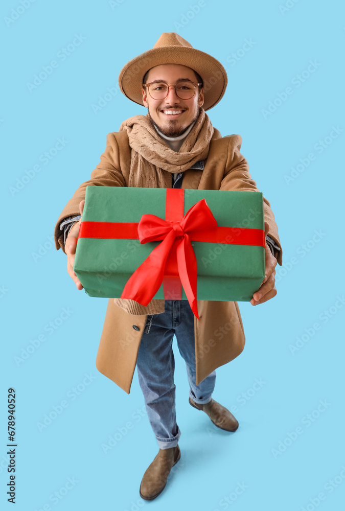
[[[196,75],[190,67],[179,64],[162,64],[152,67],[146,77],[146,83],[156,80],[176,85],[180,80],[197,83]],[[180,99],[175,89],[170,87],[169,94],[162,100],[151,98],[143,88],[143,103],[149,109],[151,122],[167,136],[179,136],[199,117],[199,109],[203,105],[203,89],[195,88],[191,99]]]

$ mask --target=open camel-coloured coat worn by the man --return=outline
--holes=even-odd
[[[183,189],[259,191],[252,180],[246,159],[240,153],[242,138],[229,135],[213,136],[204,170],[185,171]],[[63,233],[59,224],[66,217],[79,215],[79,202],[85,198],[87,185],[128,185],[130,147],[126,131],[107,135],[107,146],[91,178],[80,185],[64,207],[55,226],[56,249],[64,251]],[[165,172],[165,171],[164,171]],[[280,246],[278,227],[269,202],[264,199],[268,235]],[[275,257],[282,264],[282,250]],[[243,351],[245,336],[236,302],[198,300],[200,319],[194,317],[196,383],[197,385],[217,367],[230,362]],[[147,315],[125,312],[109,298],[103,332],[96,358],[97,369],[127,393],[133,379],[137,353],[144,333]]]

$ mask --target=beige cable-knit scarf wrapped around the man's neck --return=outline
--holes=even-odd
[[[214,133],[203,108],[179,152],[170,149],[158,135],[148,114],[130,117],[121,124],[122,130],[127,131],[131,147],[128,185],[140,188],[171,188],[170,173],[184,172],[205,159]]]

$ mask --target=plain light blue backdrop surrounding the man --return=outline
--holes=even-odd
[[[17,394],[18,511],[43,509],[47,504],[58,511],[342,508],[345,308],[337,297],[343,299],[345,292],[341,259],[345,9],[339,0],[286,3],[291,7],[282,12],[283,0],[205,0],[194,15],[190,6],[197,5],[196,0],[157,5],[118,0],[112,7],[106,1],[37,0],[26,9],[18,9],[19,0],[3,3],[0,500],[4,509],[12,508],[6,495],[8,387]],[[12,9],[24,12],[6,22]],[[189,405],[185,365],[175,352],[181,460],[164,493],[144,502],[139,485],[157,444],[145,413],[137,414],[144,404],[137,376],[128,396],[98,373],[95,358],[107,300],[77,291],[52,235],[64,205],[98,164],[106,134],[117,131],[128,117],[146,113],[121,94],[117,83],[121,68],[152,48],[162,32],[172,31],[226,66],[226,94],[208,114],[222,135],[242,136],[241,152],[260,191],[271,201],[286,266],[278,269],[277,297],[258,307],[240,304],[245,350],[217,370],[214,398],[238,407],[236,433],[216,430],[205,414]],[[62,61],[57,54],[75,34],[85,39]],[[252,47],[243,51],[246,39]],[[232,61],[234,52],[237,61]],[[52,60],[58,61],[58,67],[30,91],[27,83]],[[310,61],[316,61],[317,67],[297,86],[294,77]],[[92,105],[111,87],[113,98],[96,114]],[[292,94],[264,115],[269,102],[279,104],[278,93],[286,87],[292,88]],[[331,143],[322,152],[316,150],[333,126],[340,128],[337,136],[327,139]],[[66,145],[44,165],[40,155],[59,137]],[[311,152],[314,160],[287,183],[284,176]],[[17,179],[37,164],[41,170],[13,192]],[[315,231],[319,235],[311,241]],[[63,308],[69,308],[70,316],[49,333],[47,324],[59,318]],[[325,310],[330,311],[327,320]],[[313,333],[315,322],[319,329]],[[16,363],[15,357],[40,334],[45,340]],[[292,354],[289,346],[303,335],[305,343]],[[91,378],[88,386],[82,384],[85,374]],[[262,387],[250,390],[256,379],[264,382]],[[78,385],[76,396],[71,389]],[[241,394],[248,389],[250,399],[244,402]],[[40,431],[37,423],[63,400],[66,408]],[[304,417],[317,409],[320,400],[329,405],[314,412],[319,416],[308,427]],[[128,422],[132,427],[126,431]],[[288,433],[298,427],[302,434],[289,442]],[[125,434],[120,433],[120,441],[105,454],[102,444],[119,433],[118,428]],[[291,445],[274,454],[279,445],[283,450],[284,441]],[[68,478],[75,481],[74,486],[67,484],[69,491],[64,490]],[[327,484],[334,479],[338,482],[331,492]],[[247,487],[234,500],[238,483]],[[53,501],[54,492],[66,495]],[[312,504],[320,492],[325,500]]]

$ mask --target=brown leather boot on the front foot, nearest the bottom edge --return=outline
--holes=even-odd
[[[181,457],[178,446],[169,449],[159,449],[149,468],[146,470],[140,485],[140,496],[144,500],[153,500],[163,492],[168,475]]]

